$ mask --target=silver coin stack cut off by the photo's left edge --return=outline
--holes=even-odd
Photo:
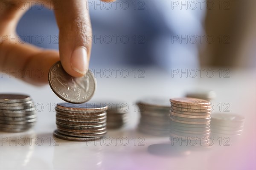
[[[35,105],[23,94],[0,94],[0,131],[23,132],[36,122]]]

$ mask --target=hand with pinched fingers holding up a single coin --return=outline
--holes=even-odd
[[[92,45],[91,41],[87,39],[87,35],[92,35],[90,16],[86,6],[87,0],[59,0],[57,3],[53,3],[53,0],[50,1],[52,6],[55,5],[54,12],[59,28],[59,52],[9,40],[10,37],[13,38],[17,35],[15,30],[18,21],[29,9],[31,2],[36,3],[36,0],[23,1],[27,3],[26,9],[17,6],[18,0],[0,1],[1,72],[11,74],[15,71],[22,70],[23,73],[26,71],[26,76],[16,75],[34,85],[44,85],[48,82],[49,68],[61,60],[64,70],[71,76],[81,77],[86,73]],[[44,6],[49,6],[49,0],[40,2]],[[29,74],[29,71],[31,73],[31,71],[39,69],[43,72],[42,76]]]

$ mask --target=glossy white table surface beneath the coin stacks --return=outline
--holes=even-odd
[[[98,142],[72,142],[54,138],[54,103],[62,100],[52,92],[49,85],[35,87],[1,75],[0,92],[29,94],[37,104],[38,122],[27,132],[0,133],[0,169],[256,169],[255,69],[230,70],[230,78],[224,78],[223,75],[219,77],[218,69],[214,69],[212,78],[206,77],[205,73],[203,78],[186,78],[186,75],[181,75],[181,78],[174,75],[172,78],[171,74],[149,68],[143,68],[144,78],[138,78],[138,75],[134,78],[133,69],[129,69],[127,78],[120,74],[110,78],[96,76],[98,88],[93,99],[127,102],[130,117],[128,126],[108,130]],[[228,113],[245,117],[241,136],[230,139],[230,146],[223,146],[223,143],[220,146],[215,139],[212,147],[202,150],[186,150],[162,156],[149,152],[148,147],[152,144],[170,144],[169,137],[138,132],[140,114],[134,111],[132,105],[145,96],[161,96],[168,100],[184,96],[186,91],[195,88],[216,92],[214,113],[219,112],[219,103],[229,103]],[[119,139],[115,142],[115,138]],[[4,142],[4,139],[8,141]],[[23,144],[23,139],[26,139],[26,144]]]

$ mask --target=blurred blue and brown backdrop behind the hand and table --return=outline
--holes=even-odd
[[[255,68],[254,0],[88,1],[90,68],[153,66]],[[20,41],[58,49],[54,12],[33,6],[17,26]]]

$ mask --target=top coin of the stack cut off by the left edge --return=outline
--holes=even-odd
[[[24,94],[0,94],[0,103],[28,102],[31,98]]]

